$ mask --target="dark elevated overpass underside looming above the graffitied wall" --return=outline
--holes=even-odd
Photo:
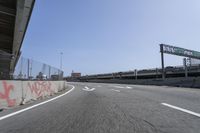
[[[0,0],[0,79],[12,78],[35,0]]]

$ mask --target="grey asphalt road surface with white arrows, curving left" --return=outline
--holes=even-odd
[[[69,84],[40,106],[0,112],[0,133],[200,133],[200,89]]]

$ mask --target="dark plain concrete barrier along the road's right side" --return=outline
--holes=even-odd
[[[90,80],[89,82],[99,83],[120,83],[120,84],[140,84],[140,85],[166,85],[176,87],[191,87],[200,88],[200,77],[188,77],[188,78],[168,78],[162,79],[110,79],[110,80]]]

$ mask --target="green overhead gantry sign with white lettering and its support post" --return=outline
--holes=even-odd
[[[161,62],[162,62],[162,78],[165,78],[165,68],[164,68],[164,53],[190,57],[194,59],[200,59],[200,52],[194,50],[188,50],[180,47],[170,46],[166,44],[160,44],[160,52],[161,52]]]

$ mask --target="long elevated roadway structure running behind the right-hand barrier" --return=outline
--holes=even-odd
[[[192,65],[187,67],[188,77],[199,77],[200,76],[200,64]],[[165,76],[166,78],[173,77],[185,77],[185,67],[184,66],[168,66],[165,67]],[[109,80],[109,79],[162,79],[162,69],[142,69],[142,70],[133,70],[125,72],[114,72],[106,74],[94,74],[94,75],[85,75],[78,78],[80,81],[90,81],[90,80]]]

